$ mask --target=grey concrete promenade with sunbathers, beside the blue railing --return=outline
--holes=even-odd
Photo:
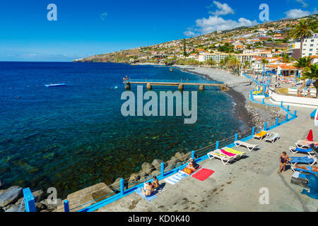
[[[266,100],[268,101],[268,100]],[[293,174],[290,167],[278,174],[278,157],[284,150],[290,156],[290,145],[306,138],[309,129],[318,140],[318,127],[310,119],[313,109],[290,107],[297,110],[298,118],[273,129],[281,135],[275,143],[250,140],[249,143],[259,144],[259,150],[249,152],[247,157],[223,165],[220,160],[204,160],[202,167],[215,172],[204,182],[187,177],[177,184],[171,185],[164,181],[166,191],[153,201],[146,201],[136,193],[110,203],[96,211],[147,211],[147,212],[181,212],[181,211],[314,211],[318,209],[318,201],[303,194],[301,186],[290,184]],[[259,189],[269,189],[269,204],[259,203]]]

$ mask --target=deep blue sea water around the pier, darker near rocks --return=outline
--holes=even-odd
[[[0,62],[0,179],[32,190],[53,186],[65,198],[129,177],[143,162],[168,160],[244,129],[232,99],[213,89],[198,92],[195,124],[184,124],[184,117],[123,117],[126,75],[205,80],[167,67]],[[45,87],[50,83],[67,86]],[[136,86],[131,91],[136,93]]]

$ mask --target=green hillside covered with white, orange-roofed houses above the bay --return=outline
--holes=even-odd
[[[317,14],[306,18],[278,20],[252,27],[216,31],[74,61],[226,67],[229,66],[229,59],[232,59],[230,67],[243,65],[260,70],[266,59],[268,66],[272,65],[273,68],[275,65],[277,68],[277,64],[288,67],[288,64],[300,57],[315,58],[318,55],[317,27],[310,37],[303,40],[302,49],[300,39],[290,35],[290,29],[300,20],[306,19],[317,21]]]

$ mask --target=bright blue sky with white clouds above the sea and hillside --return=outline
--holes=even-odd
[[[56,4],[57,21],[47,20]],[[2,0],[0,61],[71,61],[254,25],[259,5],[269,20],[317,13],[317,0]]]

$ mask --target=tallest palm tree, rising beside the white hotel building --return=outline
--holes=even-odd
[[[290,37],[294,40],[300,40],[300,57],[302,57],[302,42],[305,38],[311,37],[314,30],[317,29],[317,20],[307,19],[299,20],[298,24],[295,24],[290,29]]]

